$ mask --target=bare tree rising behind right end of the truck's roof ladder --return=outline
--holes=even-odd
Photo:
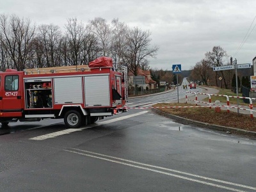
[[[77,19],[68,19],[67,25],[65,25],[66,36],[68,40],[68,51],[71,53],[71,58],[68,60],[72,61],[72,65],[81,64],[81,48],[84,42],[85,28],[82,22],[78,23]],[[66,56],[69,56],[66,54]]]

